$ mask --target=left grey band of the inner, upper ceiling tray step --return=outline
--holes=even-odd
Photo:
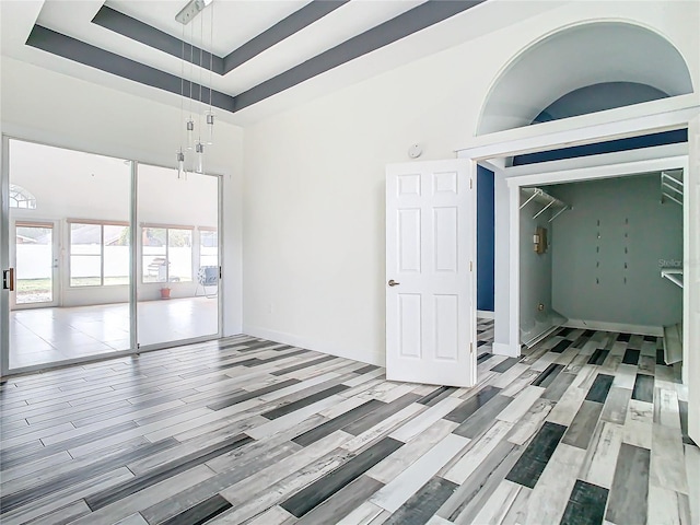
[[[211,55],[209,51],[200,49],[197,46],[191,46],[179,38],[168,35],[132,16],[120,13],[107,5],[100,8],[97,14],[92,19],[92,23],[179,59],[184,58],[187,62],[189,62],[191,58],[191,63],[195,66],[209,69],[209,57]],[[212,71],[218,74],[224,74],[223,63],[223,58],[213,55],[211,59]]]

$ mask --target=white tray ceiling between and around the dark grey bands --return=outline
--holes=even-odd
[[[91,22],[104,4],[182,38],[183,26],[175,21],[175,15],[187,3],[185,0],[3,0],[0,2],[0,44],[4,56],[154,101],[179,105],[179,97],[173,93],[37,49],[26,45],[26,39],[34,25],[38,24],[156,70],[183,75],[194,82],[201,80],[205,85],[212,85],[217,91],[236,96],[423,2],[424,0],[351,0],[223,75],[210,74],[207,70],[185,63],[178,56],[168,55]],[[223,57],[307,3],[307,0],[214,0],[192,23],[185,26],[185,40],[201,45],[207,50],[213,48],[214,55]],[[311,97],[341,89],[410,60],[517,23],[524,16],[537,15],[562,4],[555,1],[516,2],[520,5],[515,10],[508,9],[509,3],[511,2],[505,0],[488,0],[366,55],[322,71],[240,112],[220,112],[225,114],[221,118],[242,125],[255,121]],[[212,13],[213,42],[210,45]]]

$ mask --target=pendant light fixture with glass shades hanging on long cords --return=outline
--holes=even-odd
[[[175,20],[183,24],[183,56],[182,56],[182,74],[180,74],[180,121],[184,122],[184,137],[180,136],[180,145],[177,150],[177,178],[180,180],[187,180],[187,156],[192,153],[192,171],[196,173],[205,173],[205,144],[213,143],[213,127],[214,127],[214,113],[211,105],[211,80],[213,71],[213,5],[210,9],[209,19],[209,107],[206,108],[206,103],[202,101],[202,69],[203,69],[203,47],[205,47],[205,21],[200,19],[200,43],[199,43],[199,94],[195,98],[192,93],[194,84],[194,66],[195,66],[195,24],[190,25],[189,32],[189,95],[187,96],[189,103],[189,116],[185,119],[185,60],[187,56],[186,43],[185,43],[185,26],[189,23],[213,0],[190,0],[175,16]],[[198,125],[195,125],[195,117],[192,116],[192,105],[197,102],[197,120]],[[205,109],[206,108],[206,109]],[[202,121],[203,120],[203,121]],[[206,124],[205,124],[206,122]],[[203,137],[202,137],[203,132]],[[190,161],[191,162],[191,161]]]

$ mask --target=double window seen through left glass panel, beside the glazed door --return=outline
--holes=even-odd
[[[70,285],[129,283],[129,225],[120,222],[70,222]]]

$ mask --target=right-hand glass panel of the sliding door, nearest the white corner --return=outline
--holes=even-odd
[[[139,164],[139,346],[217,337],[219,177]]]

